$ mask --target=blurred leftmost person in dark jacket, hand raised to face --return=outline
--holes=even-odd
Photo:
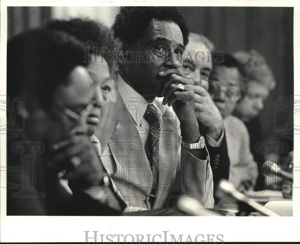
[[[106,197],[114,190],[88,137],[95,86],[85,59],[82,43],[62,31],[34,29],[8,41],[7,94],[24,107],[12,129],[19,135],[7,140],[7,215],[116,215],[124,209],[119,198]]]

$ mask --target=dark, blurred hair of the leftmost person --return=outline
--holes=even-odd
[[[49,106],[59,85],[68,84],[68,75],[84,63],[82,43],[63,32],[31,29],[7,42],[7,94],[18,97],[32,92],[44,106]]]

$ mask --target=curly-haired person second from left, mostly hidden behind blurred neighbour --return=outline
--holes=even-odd
[[[88,19],[54,19],[46,24],[46,28],[65,31],[80,40],[83,44],[82,48],[89,49],[90,62],[87,65],[87,70],[95,85],[95,96],[93,97],[95,106],[92,108],[92,112],[87,119],[88,135],[90,135],[91,142],[100,156],[101,144],[98,137],[101,140],[102,131],[97,131],[98,137],[94,135],[94,132],[101,123],[107,123],[107,121],[104,121],[104,118],[109,112],[108,108],[111,103],[116,102],[114,97],[114,81],[110,76],[110,74],[116,72],[114,69],[115,63],[111,57],[108,57],[107,53],[116,48],[117,42],[113,39],[112,31],[108,27]],[[97,50],[95,57],[91,55],[94,50]],[[97,62],[93,62],[95,60]],[[109,172],[109,169],[106,170]],[[113,182],[112,184],[116,194],[122,198],[122,195]],[[124,203],[127,205],[124,212],[142,210],[141,208],[129,206],[128,202],[124,201]]]

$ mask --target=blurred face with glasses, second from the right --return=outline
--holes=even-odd
[[[226,118],[232,113],[240,98],[238,69],[215,65],[209,77],[208,91],[222,117]]]

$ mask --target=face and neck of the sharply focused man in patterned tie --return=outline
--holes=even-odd
[[[152,20],[145,36],[131,50],[142,51],[144,60],[148,62],[125,64],[125,75],[141,95],[161,97],[163,85],[169,77],[161,77],[158,73],[182,65],[177,60],[184,52],[179,26],[170,21]]]

